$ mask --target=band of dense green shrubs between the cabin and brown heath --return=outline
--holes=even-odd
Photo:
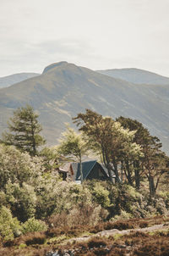
[[[146,182],[139,190],[111,181],[62,181],[46,159],[30,157],[15,147],[0,145],[0,234],[13,240],[49,227],[97,225],[106,220],[145,218],[168,214],[169,192],[150,197]]]

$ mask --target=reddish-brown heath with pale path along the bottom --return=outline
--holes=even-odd
[[[169,215],[72,227],[54,223],[47,231],[30,232],[13,241],[3,242],[0,255],[166,256],[168,237]]]

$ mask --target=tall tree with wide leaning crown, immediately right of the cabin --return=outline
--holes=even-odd
[[[139,145],[133,142],[135,131],[125,130],[119,122],[90,109],[86,109],[85,114],[79,113],[74,123],[79,126],[79,131],[85,133],[90,147],[101,154],[111,181],[113,170],[119,182],[119,162],[124,158],[138,157],[140,153]]]

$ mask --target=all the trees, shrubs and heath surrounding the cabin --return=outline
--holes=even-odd
[[[77,249],[73,255],[146,255],[149,248],[151,255],[155,244],[156,255],[167,255],[169,160],[158,138],[136,120],[114,121],[87,109],[74,119],[82,133],[68,127],[58,147],[40,151],[45,140],[37,117],[30,106],[18,109],[9,124],[13,133],[4,133],[0,143],[0,255],[52,249],[62,255],[68,248]],[[84,181],[83,175],[81,185],[63,181],[59,166],[70,158],[81,163],[89,152],[101,158],[109,181]],[[158,234],[92,237],[160,224],[166,230]],[[70,240],[81,236],[90,240]]]

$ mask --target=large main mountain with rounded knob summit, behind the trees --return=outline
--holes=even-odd
[[[169,86],[135,85],[93,70],[61,62],[41,75],[0,90],[0,132],[14,109],[30,103],[40,114],[48,144],[57,144],[65,122],[85,109],[116,118],[139,120],[169,152]]]

